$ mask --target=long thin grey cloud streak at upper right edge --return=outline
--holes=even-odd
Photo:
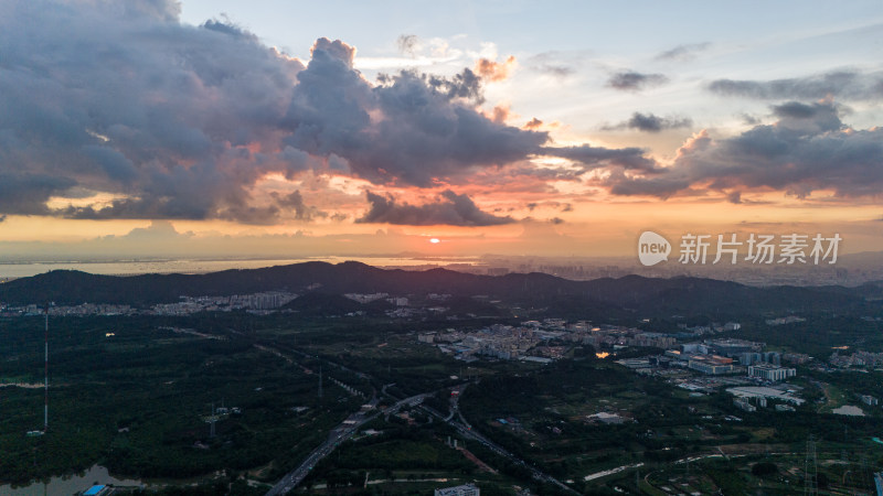
[[[757,99],[813,100],[833,96],[840,100],[876,100],[883,98],[883,73],[840,71],[773,80],[717,79],[709,84],[709,89]]]

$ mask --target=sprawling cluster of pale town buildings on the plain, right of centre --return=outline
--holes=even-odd
[[[469,332],[448,328],[442,332],[421,333],[417,339],[438,346],[444,353],[465,360],[480,358],[522,359],[551,362],[561,358],[567,344],[591,345],[599,351],[599,357],[608,356],[626,347],[658,347],[664,353],[656,356],[624,358],[617,360],[639,374],[659,375],[671,384],[704,395],[726,387],[733,395],[734,405],[744,411],[775,407],[787,412],[802,405],[800,388],[784,384],[797,375],[797,369],[783,364],[806,364],[812,358],[799,353],[766,351],[766,344],[731,337],[709,337],[702,341],[679,339],[735,331],[735,322],[711,326],[685,327],[683,333],[663,334],[634,327],[596,326],[591,322],[568,323],[562,319],[522,322],[519,326],[494,324]],[[875,354],[857,353],[859,363],[870,363]],[[883,354],[880,354],[883,358]],[[696,375],[699,373],[699,375]],[[862,398],[872,402],[875,398]],[[619,422],[621,418],[604,413],[592,417],[593,422]]]

